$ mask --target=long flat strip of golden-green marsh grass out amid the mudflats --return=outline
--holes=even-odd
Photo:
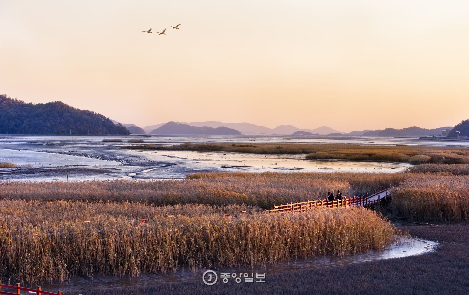
[[[393,161],[410,164],[469,164],[469,148],[358,144],[178,144],[127,145],[124,149],[307,154],[306,159]]]

